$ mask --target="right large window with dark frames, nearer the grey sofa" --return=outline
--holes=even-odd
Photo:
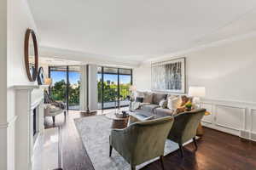
[[[108,109],[129,105],[132,70],[98,67],[98,108]]]

